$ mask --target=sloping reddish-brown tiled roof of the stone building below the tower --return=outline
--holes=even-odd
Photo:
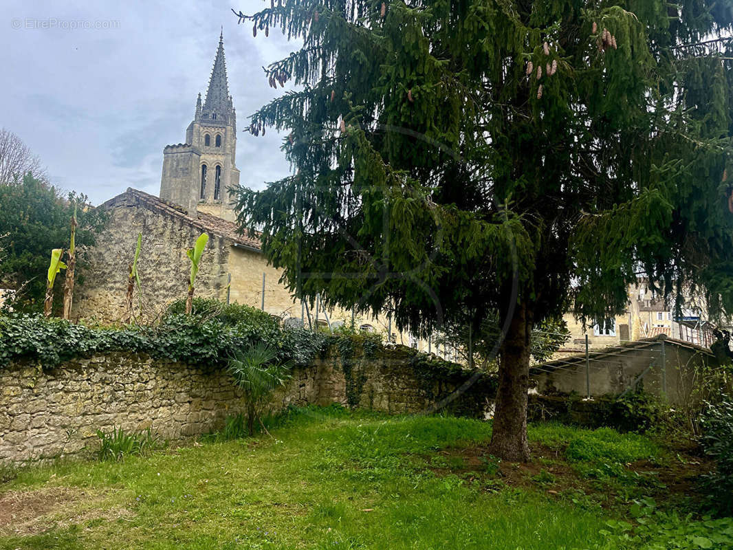
[[[225,219],[217,218],[211,214],[202,212],[194,212],[193,216],[189,215],[188,210],[183,206],[168,202],[154,195],[139,191],[128,187],[125,193],[117,195],[105,202],[103,208],[114,208],[117,205],[129,204],[134,202],[143,205],[145,208],[155,210],[157,212],[166,213],[184,221],[191,226],[198,228],[202,232],[207,232],[210,236],[224,237],[232,241],[232,243],[240,246],[246,246],[249,249],[260,250],[261,244],[258,238],[252,238],[249,235],[240,235],[236,224]]]

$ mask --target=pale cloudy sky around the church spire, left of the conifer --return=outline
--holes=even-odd
[[[255,138],[242,129],[252,112],[282,93],[268,87],[262,65],[297,44],[273,29],[268,38],[252,37],[251,24],[237,26],[230,8],[252,13],[264,6],[4,0],[0,127],[40,156],[52,183],[84,192],[95,205],[128,187],[157,195],[163,147],[185,141],[224,26],[240,183],[261,188],[288,173],[281,136],[268,131]]]

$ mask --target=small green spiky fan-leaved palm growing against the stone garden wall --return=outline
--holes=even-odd
[[[276,357],[277,353],[272,347],[265,342],[258,342],[229,359],[229,373],[243,393],[249,435],[254,434],[257,420],[265,428],[262,413],[268,407],[273,392],[284,386],[290,378],[290,371],[295,365],[292,361],[276,362]]]

